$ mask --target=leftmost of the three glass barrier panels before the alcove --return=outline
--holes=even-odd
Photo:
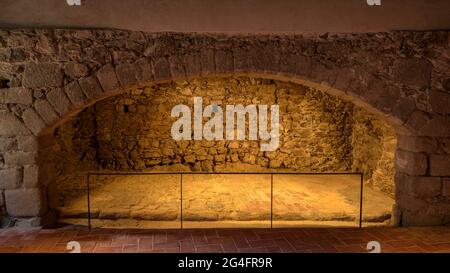
[[[91,226],[181,228],[180,174],[91,175]]]

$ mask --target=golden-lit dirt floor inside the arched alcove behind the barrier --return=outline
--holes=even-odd
[[[87,225],[85,176],[66,178],[60,222]],[[66,181],[67,182],[67,181]],[[359,222],[359,175],[94,175],[94,227],[183,228],[352,226]],[[363,224],[386,225],[394,200],[363,188]],[[271,208],[271,192],[273,203]],[[182,194],[181,194],[182,193]],[[182,200],[182,202],[181,202]]]

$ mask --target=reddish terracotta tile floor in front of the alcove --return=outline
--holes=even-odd
[[[366,229],[0,230],[0,252],[450,252],[450,227]]]

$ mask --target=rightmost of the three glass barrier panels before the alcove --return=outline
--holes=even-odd
[[[274,174],[273,227],[358,227],[359,174]]]

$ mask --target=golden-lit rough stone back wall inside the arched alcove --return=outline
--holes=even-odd
[[[172,107],[217,103],[280,106],[280,145],[260,151],[257,141],[175,141]],[[253,78],[168,83],[131,90],[87,108],[56,132],[60,166],[82,170],[90,160],[107,170],[145,170],[184,164],[191,171],[352,171],[353,104],[301,85]],[[367,115],[367,113],[366,113]],[[368,118],[370,119],[370,118]],[[225,121],[224,121],[225,127]],[[376,159],[369,169],[376,165]],[[71,171],[73,171],[72,169]]]

